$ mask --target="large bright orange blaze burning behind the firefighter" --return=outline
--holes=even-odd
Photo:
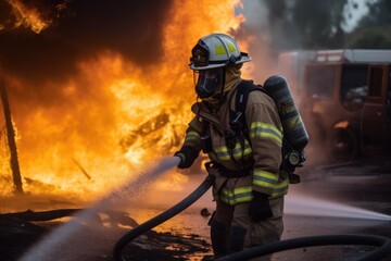
[[[195,101],[188,69],[190,50],[203,35],[235,30],[243,21],[235,14],[237,4],[230,0],[218,4],[175,1],[164,26],[165,54],[148,70],[106,50],[79,61],[77,74],[70,75],[63,86],[48,80],[48,89],[61,90],[65,97],[50,107],[28,100],[16,107],[10,95],[24,191],[90,200],[150,161],[173,154]],[[28,14],[13,7],[33,30],[45,29],[42,20],[33,18],[39,17],[36,10]],[[239,45],[245,50],[245,42]],[[4,77],[8,88],[23,87],[17,78]],[[8,153],[1,152],[1,194],[9,196],[14,189],[12,174]],[[161,187],[173,189],[173,184],[186,179],[176,173],[167,178]]]

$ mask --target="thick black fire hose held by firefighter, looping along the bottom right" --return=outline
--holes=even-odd
[[[213,185],[214,176],[209,175],[204,182],[188,197],[175,204],[171,209],[163,213],[154,216],[153,219],[140,224],[133,228],[130,232],[125,234],[115,244],[113,249],[113,258],[115,261],[123,261],[123,250],[127,244],[134,240],[139,235],[150,231],[151,228],[162,224],[171,217],[177,215],[193,202],[195,202],[202,195],[204,195],[209,188]],[[251,258],[262,257],[283,250],[302,248],[302,247],[314,247],[314,246],[327,246],[327,245],[366,245],[378,247],[361,257],[356,261],[376,261],[381,260],[391,253],[391,239],[383,236],[375,235],[327,235],[327,236],[311,236],[300,237],[293,239],[286,239],[277,243],[265,244],[258,247],[253,247],[241,252],[236,252],[224,258],[217,259],[219,261],[241,261]]]

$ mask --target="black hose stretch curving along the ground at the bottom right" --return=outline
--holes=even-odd
[[[366,253],[364,257],[358,258],[356,261],[377,261],[386,258],[389,253],[391,253],[391,239],[388,237],[374,235],[327,235],[299,237],[270,243],[258,247],[253,247],[241,252],[236,252],[216,260],[241,261],[294,248],[327,245],[368,245],[379,247],[378,249]]]

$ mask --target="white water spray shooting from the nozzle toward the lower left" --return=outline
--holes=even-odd
[[[162,174],[173,169],[179,164],[179,158],[169,157],[163,158],[157,162],[153,170],[142,173],[135,181],[130,181],[125,184],[123,187],[110,192],[108,196],[103,197],[101,200],[96,202],[90,208],[80,211],[73,220],[64,223],[60,227],[55,228],[49,235],[47,235],[37,245],[34,245],[21,259],[20,261],[45,261],[45,260],[75,260],[75,256],[78,253],[70,253],[73,256],[67,259],[66,257],[58,257],[55,252],[61,251],[63,245],[67,240],[77,240],[76,244],[78,247],[87,247],[90,241],[84,241],[83,237],[71,238],[79,233],[83,228],[84,223],[93,220],[93,217],[102,210],[110,209],[115,203],[121,202],[121,200],[137,197],[136,195],[140,189],[150,185]],[[93,243],[92,243],[93,244]]]

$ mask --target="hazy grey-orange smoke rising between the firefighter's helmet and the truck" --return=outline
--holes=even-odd
[[[306,60],[303,57],[292,63],[287,58],[279,58],[283,51],[295,49],[302,41],[302,32],[292,17],[295,4],[291,0],[242,0],[241,8],[236,12],[243,14],[245,21],[235,34],[238,39],[248,44],[244,51],[252,57],[249,75],[257,84],[264,84],[272,75],[282,75],[288,79],[295,104],[304,109],[302,104],[307,101],[301,95]],[[301,114],[303,115],[303,111]],[[315,147],[315,144],[324,137],[314,137],[312,134],[317,134],[318,125],[303,120],[311,136],[311,144],[305,149],[306,154],[311,156],[306,164],[321,162],[326,158],[325,150]],[[315,154],[317,159],[314,159]]]

